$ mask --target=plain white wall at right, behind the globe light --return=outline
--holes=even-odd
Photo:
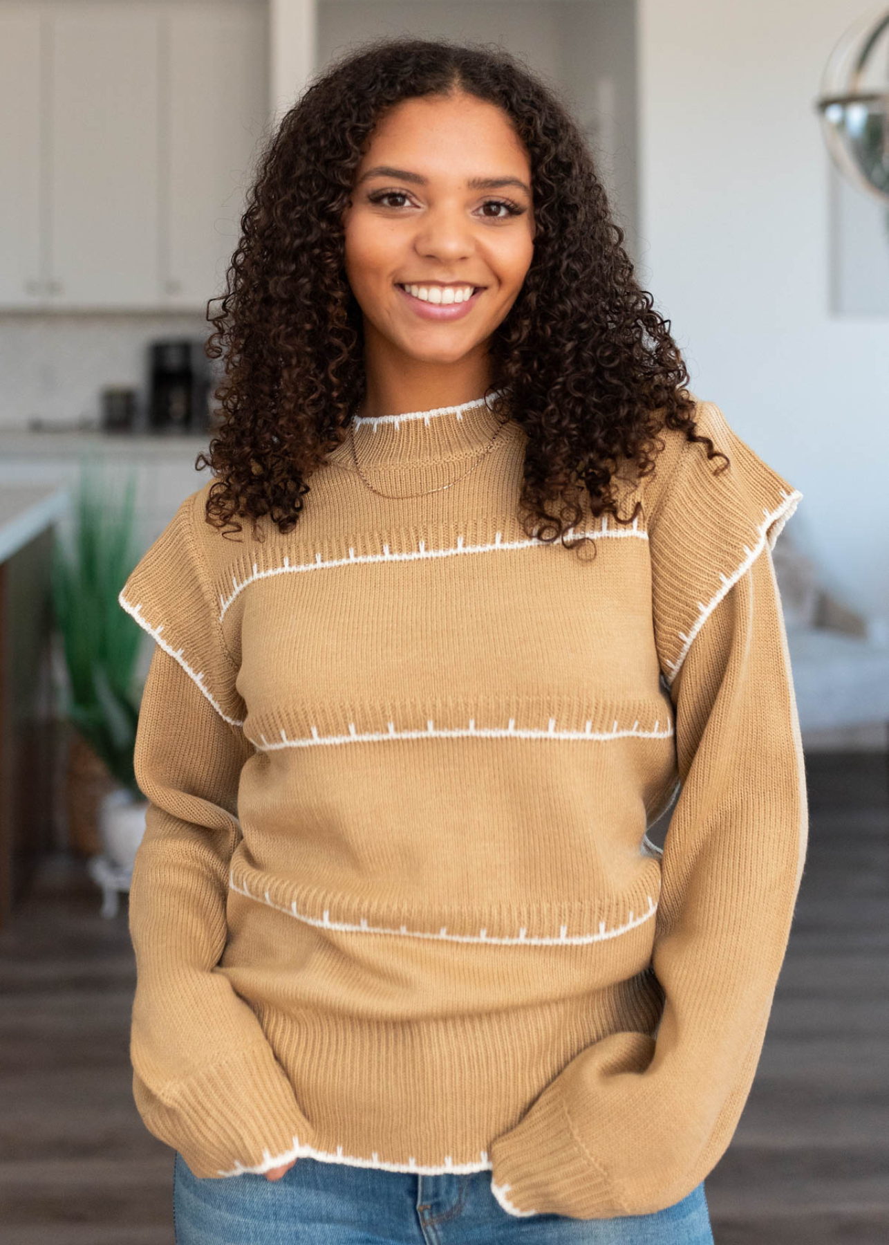
[[[640,279],[691,387],[802,491],[788,534],[889,618],[889,316],[829,310],[813,110],[860,0],[637,0]]]

